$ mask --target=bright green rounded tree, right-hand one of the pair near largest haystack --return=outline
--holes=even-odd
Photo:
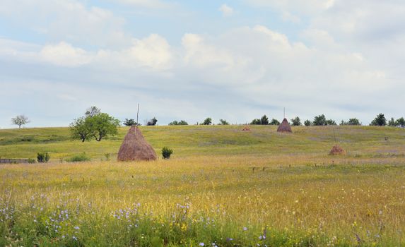
[[[86,118],[86,122],[88,122],[92,135],[98,142],[108,135],[117,135],[118,133],[119,120],[106,113],[88,117]]]

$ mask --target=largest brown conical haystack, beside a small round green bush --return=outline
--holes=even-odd
[[[118,151],[118,161],[155,160],[153,147],[143,138],[138,127],[131,126]]]

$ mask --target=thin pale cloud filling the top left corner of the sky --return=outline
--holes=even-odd
[[[126,45],[124,19],[77,0],[3,0],[0,16],[49,40],[100,46]]]

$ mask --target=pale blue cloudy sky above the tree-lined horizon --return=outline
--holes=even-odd
[[[403,0],[1,0],[0,128],[405,116]]]

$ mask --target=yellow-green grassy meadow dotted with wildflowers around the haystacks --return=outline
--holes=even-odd
[[[51,155],[0,165],[0,246],[405,246],[404,129],[336,126],[333,157],[333,127],[250,128],[141,127],[174,153],[123,163],[128,128],[0,130],[2,158]]]

